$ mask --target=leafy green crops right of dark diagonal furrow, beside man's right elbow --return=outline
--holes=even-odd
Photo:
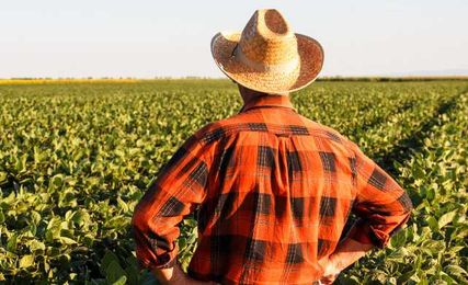
[[[414,138],[421,142],[396,163],[414,204],[408,227],[390,246],[351,267],[340,284],[468,283],[468,93]]]

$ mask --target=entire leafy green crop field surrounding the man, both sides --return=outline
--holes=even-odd
[[[468,81],[315,82],[292,101],[414,205],[389,247],[336,284],[467,284]],[[135,205],[191,134],[241,106],[227,80],[0,82],[0,280],[150,284],[133,252]],[[181,228],[186,266],[196,220]]]

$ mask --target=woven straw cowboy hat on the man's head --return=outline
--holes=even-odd
[[[293,33],[275,9],[256,10],[242,33],[217,33],[212,39],[212,55],[226,76],[265,93],[303,89],[323,66],[321,45]]]

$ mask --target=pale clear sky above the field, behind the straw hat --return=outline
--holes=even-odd
[[[276,8],[321,76],[468,75],[467,0],[2,1],[0,78],[222,77],[209,43]]]

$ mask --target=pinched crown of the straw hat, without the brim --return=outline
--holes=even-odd
[[[238,57],[263,66],[298,60],[297,39],[289,23],[275,9],[256,10],[242,31]]]

